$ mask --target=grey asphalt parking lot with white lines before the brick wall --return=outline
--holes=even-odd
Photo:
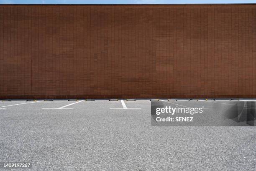
[[[255,144],[255,127],[151,126],[149,100],[0,102],[0,162],[31,170],[256,170]]]

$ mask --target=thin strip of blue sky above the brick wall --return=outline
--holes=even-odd
[[[256,0],[0,0],[13,4],[256,3]]]

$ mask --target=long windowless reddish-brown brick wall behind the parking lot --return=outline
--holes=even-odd
[[[0,5],[0,98],[256,97],[256,5]]]

